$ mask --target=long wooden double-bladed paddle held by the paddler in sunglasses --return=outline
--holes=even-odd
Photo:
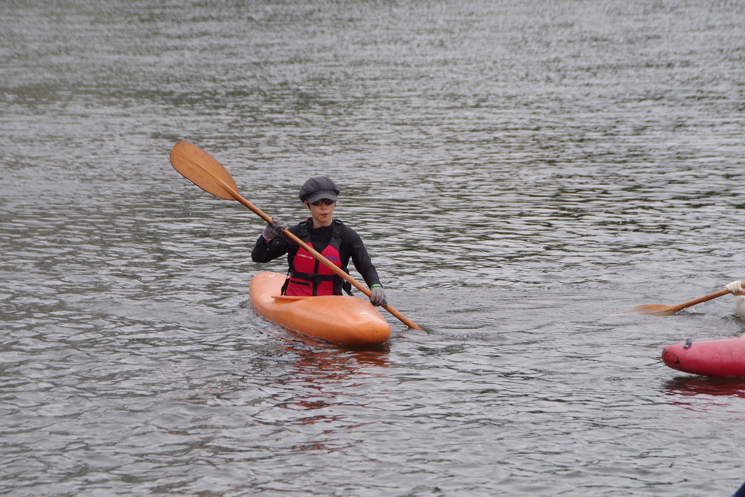
[[[264,214],[264,212],[261,212],[261,209],[253,205],[253,203],[250,203],[238,193],[238,186],[235,186],[235,181],[233,181],[226,168],[223,168],[223,165],[220,162],[218,162],[213,156],[209,155],[209,153],[206,153],[201,148],[197,147],[197,145],[191,145],[191,143],[187,142],[178,142],[174,145],[174,148],[171,148],[171,165],[174,166],[174,169],[179,171],[183,177],[191,181],[191,183],[194,183],[194,185],[200,187],[200,189],[215,195],[215,197],[224,198],[225,200],[238,200],[238,202],[251,209],[254,214],[259,216],[259,218],[263,219],[268,224],[273,224],[272,218]],[[313,250],[313,248],[306,244],[305,241],[302,241],[300,238],[293,235],[289,229],[285,229],[283,233],[300,247],[307,250],[308,253],[318,259],[321,264],[337,273],[347,282],[352,284],[352,286],[367,295],[367,297],[370,297],[370,294],[372,293],[370,290],[361,285],[361,283],[352,278],[352,276],[349,276],[349,274],[344,272],[341,268],[334,265],[329,261],[329,259],[326,259],[326,257],[322,256],[316,250]],[[416,323],[409,320],[399,311],[396,311],[392,306],[384,306],[383,308],[390,312],[390,314],[396,316],[409,328],[421,330],[419,326],[416,326]]]

